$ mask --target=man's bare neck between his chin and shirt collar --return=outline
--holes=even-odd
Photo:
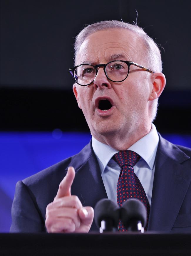
[[[146,134],[148,134],[151,130],[151,124],[148,126],[142,126],[141,129],[138,128],[136,131],[133,130],[132,132],[126,131],[126,133],[110,133],[107,135],[101,135],[98,134],[92,134],[94,138],[96,138],[98,141],[100,141],[103,144],[111,146],[113,149],[116,149],[118,151],[126,150],[135,142],[143,138]]]

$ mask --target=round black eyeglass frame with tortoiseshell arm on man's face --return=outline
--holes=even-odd
[[[116,61],[118,61],[118,60],[116,60]],[[98,64],[98,65],[95,65],[95,66],[93,66],[93,65],[91,65],[91,64],[83,63],[83,64],[77,65],[77,66],[75,66],[75,67],[69,69],[69,72],[71,73],[71,75],[73,76],[73,79],[74,79],[75,83],[77,83],[77,84],[79,84],[79,83],[78,83],[78,82],[76,81],[76,79],[75,79],[74,71],[75,71],[76,68],[78,68],[79,66],[82,66],[82,65],[88,65],[88,66],[94,67],[94,68],[96,69],[96,75],[98,74],[98,69],[97,69],[97,68],[98,68],[98,67],[104,67],[103,70],[104,70],[104,73],[105,73],[106,77],[107,77],[110,81],[115,82],[115,83],[123,82],[123,81],[128,77],[128,74],[129,74],[129,70],[130,70],[130,66],[131,66],[131,65],[137,66],[137,67],[139,67],[139,68],[141,68],[141,69],[143,69],[143,70],[145,70],[145,71],[148,71],[149,73],[155,73],[155,72],[152,71],[151,69],[145,68],[145,67],[143,67],[143,66],[141,66],[141,65],[139,65],[139,64],[137,64],[137,63],[135,63],[135,62],[133,62],[133,61],[121,61],[121,62],[124,62],[124,63],[127,64],[127,66],[128,66],[128,74],[127,74],[127,76],[126,76],[123,80],[121,80],[121,81],[113,81],[113,80],[111,80],[111,79],[108,77],[108,75],[107,75],[107,73],[106,73],[106,70],[105,70],[106,66],[107,66],[109,63],[111,63],[111,62],[114,62],[114,61],[110,61],[110,62],[108,62],[107,64]],[[95,78],[96,78],[96,76],[95,76]],[[95,78],[94,78],[94,79],[95,79]],[[94,79],[93,79],[93,81],[94,81]],[[79,84],[79,85],[81,85],[81,86],[87,86],[87,85],[92,84],[93,81],[92,81],[91,83],[89,83],[89,84],[85,84],[85,85],[84,85],[84,84]]]

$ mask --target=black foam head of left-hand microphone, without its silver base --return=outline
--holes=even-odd
[[[119,208],[108,198],[101,199],[96,203],[94,208],[94,220],[98,228],[101,226],[101,221],[110,219],[113,222],[113,227],[118,227],[119,222]]]

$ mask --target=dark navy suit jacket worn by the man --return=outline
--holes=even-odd
[[[159,135],[148,231],[191,232],[191,149]],[[76,170],[71,193],[83,206],[107,198],[91,143],[65,159],[16,184],[11,232],[46,232],[46,206],[54,200],[68,166]],[[91,231],[98,231],[94,221]]]

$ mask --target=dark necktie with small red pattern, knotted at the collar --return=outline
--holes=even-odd
[[[147,209],[147,224],[145,230],[148,227],[148,218],[150,212],[150,205],[145,194],[145,190],[140,183],[140,180],[134,173],[134,165],[139,161],[140,156],[130,150],[120,151],[113,156],[115,162],[121,168],[121,172],[117,183],[117,203],[121,207],[123,202],[129,198],[139,199]],[[121,220],[119,221],[119,231],[127,231],[124,228]]]

